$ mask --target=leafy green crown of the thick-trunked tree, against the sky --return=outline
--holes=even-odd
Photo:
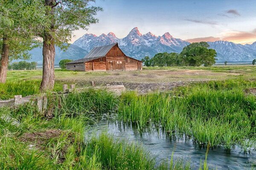
[[[62,0],[53,1],[48,5],[45,1],[40,1],[41,7],[45,7],[43,16],[47,18],[47,25],[38,26],[38,32],[43,39],[51,35],[55,40],[55,45],[67,48],[73,31],[79,28],[87,29],[87,26],[97,23],[95,18],[102,8],[93,6],[95,0]],[[50,1],[51,2],[51,1]],[[51,10],[53,9],[54,12]],[[46,25],[46,26],[45,26]],[[48,41],[48,40],[47,40]]]

